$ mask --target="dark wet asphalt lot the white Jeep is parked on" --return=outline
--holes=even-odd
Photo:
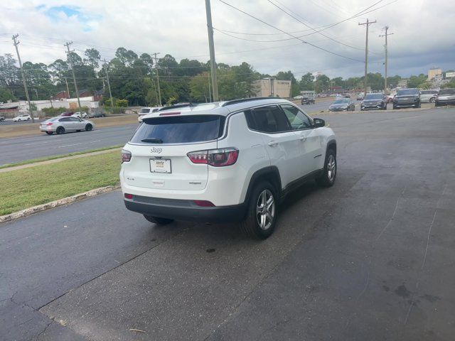
[[[0,340],[453,340],[455,109],[319,116],[336,184],[266,241],[119,191],[0,224]]]

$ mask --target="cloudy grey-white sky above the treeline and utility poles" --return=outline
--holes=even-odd
[[[291,70],[297,78],[308,71],[360,76],[365,26],[358,23],[369,18],[377,21],[370,26],[369,71],[383,72],[384,38],[379,35],[385,26],[394,33],[389,36],[389,75],[427,73],[434,66],[455,69],[453,0],[223,1],[211,0],[218,63],[245,61],[262,73]],[[23,61],[65,58],[67,40],[73,40],[80,55],[86,48],[97,48],[106,59],[119,46],[138,55],[160,52],[204,62],[209,58],[204,0],[21,0],[1,1],[0,9],[0,53],[15,56],[11,36],[18,33]],[[320,33],[311,29],[334,23],[339,24]]]

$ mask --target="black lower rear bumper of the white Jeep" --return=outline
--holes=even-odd
[[[164,199],[133,195],[124,199],[128,210],[152,217],[202,222],[240,222],[245,217],[247,204],[200,207],[192,200]]]

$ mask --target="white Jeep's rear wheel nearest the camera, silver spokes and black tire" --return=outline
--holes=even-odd
[[[276,193],[275,188],[267,181],[258,183],[253,188],[245,220],[240,222],[240,229],[248,237],[267,239],[273,233],[278,212]]]

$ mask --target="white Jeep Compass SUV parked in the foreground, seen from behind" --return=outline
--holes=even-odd
[[[284,99],[167,107],[142,121],[120,181],[127,209],[156,224],[237,221],[264,239],[290,190],[336,178],[332,129]]]

